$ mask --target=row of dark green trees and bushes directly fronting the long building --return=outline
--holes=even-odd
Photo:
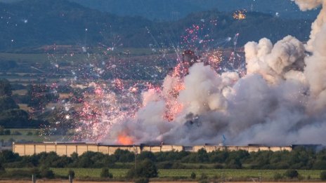
[[[131,168],[133,163],[149,159],[162,169],[297,169],[326,170],[326,150],[296,148],[293,151],[212,151],[200,149],[198,152],[169,151],[141,154],[117,149],[115,154],[108,155],[87,151],[71,156],[58,156],[55,152],[19,156],[12,151],[2,151],[0,162],[6,168]],[[197,165],[196,165],[197,164]]]

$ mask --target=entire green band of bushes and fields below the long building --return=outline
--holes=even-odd
[[[294,151],[213,151],[203,149],[197,153],[143,152],[136,158],[132,152],[117,150],[107,155],[87,151],[78,156],[58,156],[54,152],[33,156],[18,156],[12,151],[1,151],[2,177],[10,177],[19,172],[20,177],[28,175],[31,169],[41,177],[134,179],[159,177],[164,179],[209,179],[246,180],[261,177],[265,180],[280,179],[324,179],[325,169],[313,170],[316,163],[322,162],[326,150],[315,152],[311,149],[297,148]],[[239,169],[228,168],[233,160],[241,163]],[[233,163],[230,163],[233,162]],[[264,163],[261,163],[264,162]],[[236,163],[235,163],[236,164]],[[280,168],[282,167],[282,168]],[[52,172],[51,172],[52,171]],[[72,173],[73,172],[73,173]],[[29,175],[30,176],[30,175]],[[145,179],[143,179],[145,180]]]

